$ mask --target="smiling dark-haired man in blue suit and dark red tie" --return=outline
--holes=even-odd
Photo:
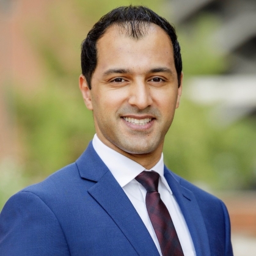
[[[145,7],[117,8],[87,35],[81,65],[96,135],[9,199],[0,254],[233,255],[224,203],[163,164],[183,78],[174,28]]]

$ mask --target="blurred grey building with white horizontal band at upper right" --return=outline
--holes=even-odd
[[[218,103],[214,115],[222,125],[256,113],[256,1],[172,0],[175,24],[186,26],[200,15],[219,17],[212,35],[218,51],[229,59],[222,76],[192,78],[188,97],[200,104]]]

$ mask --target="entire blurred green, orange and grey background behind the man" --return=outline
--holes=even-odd
[[[224,200],[235,255],[255,255],[255,0],[0,0],[0,210],[92,139],[80,45],[102,15],[128,4],[147,5],[178,32],[185,81],[165,163]]]

